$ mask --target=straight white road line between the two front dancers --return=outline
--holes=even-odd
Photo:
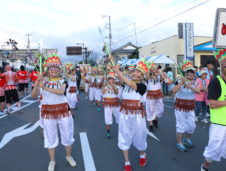
[[[85,171],[96,171],[96,167],[93,161],[93,156],[89,146],[87,134],[85,132],[80,133],[80,141],[82,146],[82,155],[85,165]]]

